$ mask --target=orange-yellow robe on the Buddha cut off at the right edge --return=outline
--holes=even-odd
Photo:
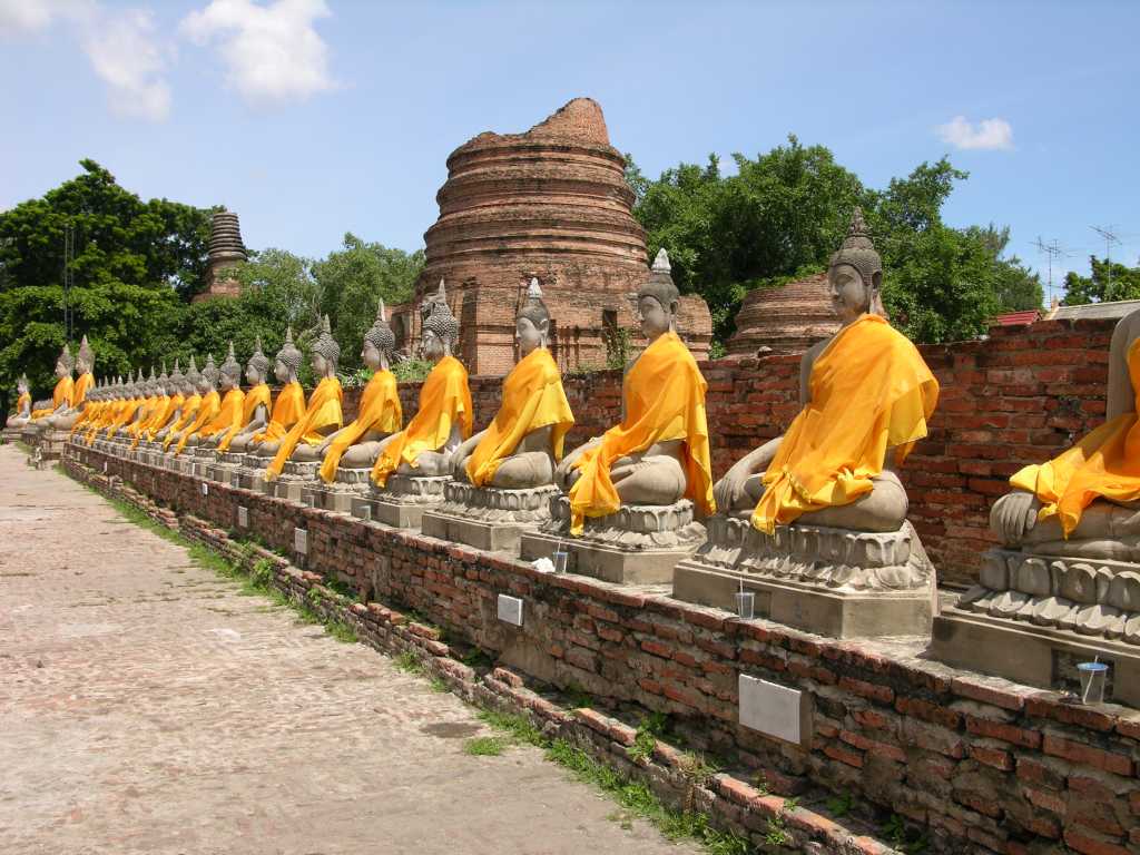
[[[1129,345],[1129,378],[1140,407],[1140,339]],[[1137,413],[1122,413],[1105,422],[1073,448],[1053,459],[1019,470],[1012,487],[1036,495],[1039,520],[1058,516],[1067,539],[1081,514],[1098,498],[1109,502],[1140,499],[1140,426]]]

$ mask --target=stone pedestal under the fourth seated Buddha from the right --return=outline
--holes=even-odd
[[[551,519],[554,484],[529,490],[474,487],[464,481],[443,486],[443,502],[423,516],[423,534],[487,552],[519,554],[519,540]]]

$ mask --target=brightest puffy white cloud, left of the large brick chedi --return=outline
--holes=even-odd
[[[195,44],[215,44],[226,82],[250,104],[306,99],[336,87],[328,46],[314,22],[329,15],[324,0],[211,0],[180,24]]]

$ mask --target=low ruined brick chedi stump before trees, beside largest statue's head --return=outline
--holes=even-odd
[[[828,275],[817,274],[780,287],[748,292],[736,314],[728,353],[800,353],[838,329]]]

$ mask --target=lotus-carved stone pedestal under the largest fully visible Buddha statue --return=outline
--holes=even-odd
[[[677,600],[735,611],[740,591],[755,616],[836,638],[926,635],[935,572],[910,523],[877,534],[781,526],[773,536],[747,515],[717,515],[708,542],[677,564]]]

